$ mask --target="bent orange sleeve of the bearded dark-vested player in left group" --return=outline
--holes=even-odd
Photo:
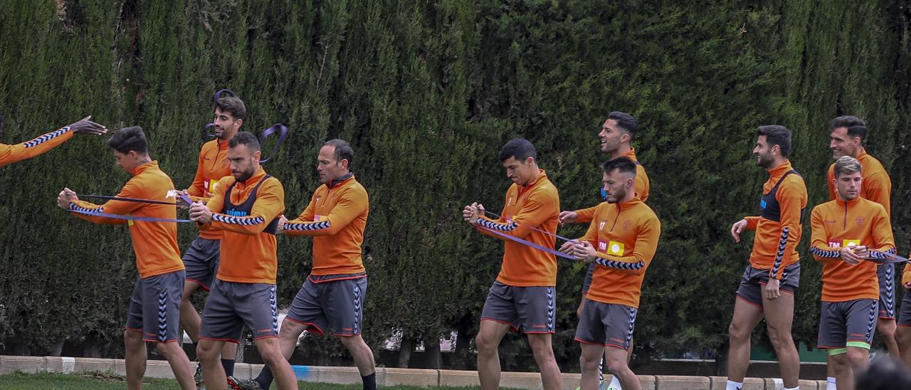
[[[212,195],[212,200],[220,199],[224,202],[224,197],[216,196],[218,192]],[[210,200],[210,203],[212,202]],[[208,204],[207,204],[208,206]],[[224,205],[221,204],[220,208]],[[211,209],[210,209],[211,210]],[[213,210],[214,211],[214,210]],[[256,202],[253,203],[253,210],[246,217],[234,217],[218,212],[212,213],[211,229],[220,231],[233,231],[241,234],[259,234],[269,223],[284,211],[284,189],[281,187],[279,180],[268,180],[262,183],[259,192],[256,194]]]

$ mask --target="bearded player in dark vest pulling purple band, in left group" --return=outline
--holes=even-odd
[[[237,133],[228,143],[232,176],[219,180],[208,203],[195,202],[189,208],[190,219],[201,230],[222,231],[219,269],[202,310],[197,347],[209,389],[228,388],[220,352],[226,341],[241,344],[245,324],[279,388],[297,388],[278,340],[275,233],[284,211],[284,189],[261,168],[260,158],[256,137]]]

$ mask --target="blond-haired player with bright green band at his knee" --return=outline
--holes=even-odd
[[[814,207],[811,251],[823,262],[819,348],[826,349],[839,389],[854,388],[854,376],[869,363],[878,312],[876,263],[895,253],[892,225],[883,206],[860,197],[861,164],[844,156],[834,164],[835,200]]]

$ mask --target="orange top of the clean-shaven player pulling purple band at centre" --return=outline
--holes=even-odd
[[[557,233],[559,213],[560,197],[557,187],[548,180],[547,172],[542,169],[535,182],[527,186],[513,183],[509,187],[505,206],[500,211],[501,218],[491,220],[482,216],[475,221],[478,231],[506,241],[503,245],[503,263],[496,276],[498,282],[518,287],[555,286],[557,258],[548,252],[497,236],[481,227],[553,248],[556,239],[552,234]]]

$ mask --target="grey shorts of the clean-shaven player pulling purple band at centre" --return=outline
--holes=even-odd
[[[481,321],[507,323],[527,334],[555,333],[557,287],[510,286],[494,282],[487,292]]]

